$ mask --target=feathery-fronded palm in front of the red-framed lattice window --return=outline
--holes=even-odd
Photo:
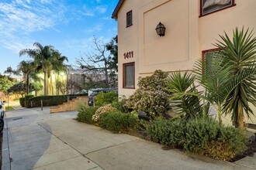
[[[227,93],[230,90],[225,87],[230,84],[230,72],[227,63],[224,63],[223,54],[220,52],[209,52],[203,59],[195,63],[195,79],[203,87],[199,96],[203,105],[211,105],[217,112],[219,122],[222,124],[222,109]],[[230,87],[232,88],[232,87]]]

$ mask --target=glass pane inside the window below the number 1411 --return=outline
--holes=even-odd
[[[124,67],[124,87],[134,87],[134,65]]]

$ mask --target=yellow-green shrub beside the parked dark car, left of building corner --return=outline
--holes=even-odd
[[[109,91],[107,93],[103,93],[102,91],[97,94],[95,97],[95,105],[102,107],[106,104],[112,104],[112,102],[118,101],[118,93],[115,91]]]

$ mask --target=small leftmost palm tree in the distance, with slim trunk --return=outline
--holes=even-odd
[[[23,78],[26,82],[26,94],[29,94],[29,75],[33,72],[33,70],[36,69],[36,65],[31,60],[22,60],[22,62],[19,63],[17,66],[17,72],[23,73]]]

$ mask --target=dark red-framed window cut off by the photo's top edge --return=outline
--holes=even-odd
[[[234,0],[200,0],[200,16],[234,6]]]

